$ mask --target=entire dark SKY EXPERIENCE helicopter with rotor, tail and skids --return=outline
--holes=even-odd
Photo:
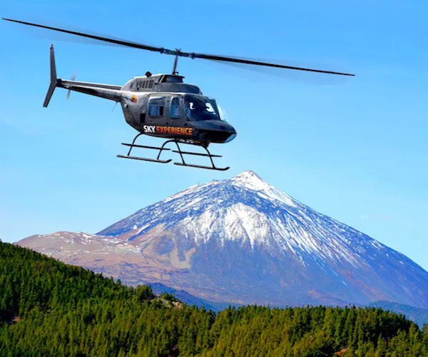
[[[117,155],[118,158],[134,159],[141,161],[151,161],[160,164],[167,164],[172,159],[161,159],[163,151],[170,151],[166,147],[172,144],[176,150],[173,153],[179,154],[180,162],[174,162],[175,165],[189,166],[198,169],[210,169],[225,171],[227,167],[215,166],[213,158],[221,157],[220,155],[211,154],[208,146],[211,143],[225,144],[235,139],[237,131],[227,121],[220,116],[219,106],[215,99],[203,95],[198,86],[185,84],[184,77],[180,76],[177,71],[178,58],[185,57],[189,59],[210,59],[215,61],[225,61],[235,64],[248,64],[250,66],[265,66],[277,69],[292,69],[296,71],[307,71],[322,74],[334,74],[339,76],[354,76],[337,71],[325,71],[322,69],[309,69],[297,66],[286,66],[282,64],[272,64],[265,61],[255,61],[250,59],[240,59],[236,57],[217,56],[210,54],[198,54],[194,52],[184,52],[181,49],[165,49],[163,47],[149,46],[133,41],[124,41],[112,37],[98,36],[57,27],[45,26],[42,24],[33,24],[30,22],[19,21],[15,19],[5,19],[18,24],[35,26],[41,29],[59,31],[65,34],[85,37],[97,41],[128,46],[135,49],[146,51],[156,51],[160,54],[174,56],[173,70],[171,74],[151,74],[147,71],[145,76],[133,77],[123,86],[111,84],[98,84],[91,82],[75,81],[60,79],[56,76],[56,63],[54,54],[54,45],[50,49],[50,72],[51,84],[44,100],[44,107],[49,105],[54,90],[63,88],[70,91],[78,91],[91,96],[98,96],[103,99],[109,99],[120,103],[123,110],[123,116],[126,123],[132,126],[138,134],[133,138],[131,144],[121,143],[128,147],[128,153]],[[115,104],[115,106],[116,106]],[[165,139],[162,146],[148,146],[136,144],[136,140],[142,136],[156,136]],[[181,144],[189,144],[205,149],[206,153],[195,151],[183,151]],[[174,146],[175,145],[175,146]],[[149,149],[156,151],[155,158],[132,155],[133,149]],[[210,159],[210,166],[188,164],[185,156],[204,156]]]

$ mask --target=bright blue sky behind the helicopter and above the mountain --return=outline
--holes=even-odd
[[[173,58],[0,21],[0,238],[96,233],[188,186],[251,169],[428,269],[427,13],[424,1],[390,0],[2,1],[2,17],[357,76],[273,76],[182,59],[180,74],[238,130],[213,145],[231,169],[116,159],[136,134],[119,106],[78,93],[66,101],[56,89],[42,108],[50,44],[58,76],[81,81],[169,73]]]

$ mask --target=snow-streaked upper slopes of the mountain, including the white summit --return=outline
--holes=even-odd
[[[215,237],[250,243],[272,254],[292,254],[302,265],[310,259],[367,264],[367,247],[380,251],[382,244],[330,217],[315,213],[260,178],[245,171],[230,180],[213,181],[177,193],[113,224],[99,234],[131,233],[131,240],[152,228],[180,226],[195,243]],[[352,244],[351,244],[352,242]]]

